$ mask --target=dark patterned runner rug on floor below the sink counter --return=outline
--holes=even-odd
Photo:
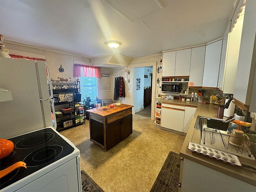
[[[178,191],[180,178],[180,155],[170,152],[150,192]]]

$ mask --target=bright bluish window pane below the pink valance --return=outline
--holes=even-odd
[[[91,98],[98,96],[97,78],[96,77],[79,77],[80,93],[82,98],[86,95]]]

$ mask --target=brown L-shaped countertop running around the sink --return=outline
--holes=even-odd
[[[210,158],[208,156],[204,156],[202,154],[198,154],[196,152],[192,152],[188,149],[189,142],[200,144],[200,130],[194,129],[194,125],[196,123],[197,116],[205,116],[210,118],[217,118],[217,110],[218,106],[215,104],[202,104],[197,102],[186,102],[182,100],[165,100],[165,99],[156,99],[158,102],[168,103],[168,104],[176,104],[176,105],[184,105],[184,106],[197,106],[196,112],[192,121],[190,123],[190,128],[188,133],[186,134],[186,138],[180,150],[180,156],[206,166],[208,168],[212,168],[218,172],[256,186],[256,171],[250,168],[244,168],[240,166],[234,166],[229,163],[222,162],[220,160],[216,160],[215,158]],[[252,167],[256,167],[255,160],[249,160],[247,158],[243,158],[238,156],[241,164],[250,165]]]

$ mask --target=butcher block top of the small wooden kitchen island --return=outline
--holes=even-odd
[[[114,108],[110,108],[108,106],[107,110],[102,110],[103,109],[103,106],[102,106],[102,107],[99,107],[99,108],[93,108],[93,109],[89,109],[89,110],[86,110],[86,111],[89,112],[89,113],[98,114],[100,116],[109,116],[109,115],[112,115],[114,113],[118,113],[118,112],[122,112],[124,110],[130,109],[132,107],[133,107],[132,105],[127,105],[127,104],[121,104],[121,106],[116,106],[114,104]]]

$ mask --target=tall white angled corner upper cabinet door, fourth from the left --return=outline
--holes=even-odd
[[[217,88],[220,68],[222,40],[206,46],[204,60],[203,87]]]

